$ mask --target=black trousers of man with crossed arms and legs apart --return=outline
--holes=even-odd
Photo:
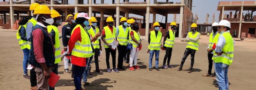
[[[187,56],[190,54],[190,56],[191,56],[190,69],[192,69],[193,65],[194,65],[195,53],[196,53],[196,50],[190,49],[190,48],[186,48],[186,50],[184,52],[184,56],[183,56],[183,58],[181,60],[181,67],[183,67],[183,64],[184,64],[185,60],[187,59]]]

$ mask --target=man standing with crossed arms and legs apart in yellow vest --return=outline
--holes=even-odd
[[[188,32],[187,37],[185,38],[185,41],[187,41],[187,47],[186,50],[184,52],[183,58],[181,60],[181,66],[178,69],[179,71],[182,70],[183,64],[187,58],[187,56],[190,54],[191,55],[191,64],[190,64],[190,68],[188,69],[188,73],[192,72],[193,69],[193,65],[194,65],[194,58],[195,58],[195,53],[198,50],[198,46],[199,46],[199,38],[201,36],[201,34],[199,32],[197,32],[197,24],[196,23],[192,23],[191,26],[191,32]]]

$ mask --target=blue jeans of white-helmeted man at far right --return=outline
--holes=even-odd
[[[216,80],[219,90],[229,90],[228,70],[229,65],[224,63],[214,63],[216,71]]]

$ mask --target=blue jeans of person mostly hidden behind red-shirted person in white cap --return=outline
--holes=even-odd
[[[91,68],[92,58],[93,58],[93,55],[89,58],[89,60],[86,60],[85,71],[83,73],[83,82],[87,82],[87,77],[88,77],[88,74],[89,74],[89,70]]]

